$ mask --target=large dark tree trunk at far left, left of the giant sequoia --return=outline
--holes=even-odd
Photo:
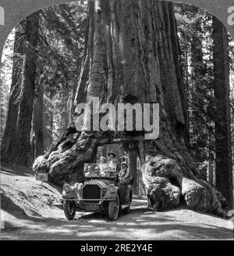
[[[39,13],[34,13],[25,20],[25,38],[23,38],[23,63],[20,70],[18,90],[19,107],[14,125],[16,137],[2,156],[3,161],[11,164],[27,165],[30,157],[30,130],[34,106],[34,88],[37,72],[37,53]],[[9,135],[11,136],[11,135]]]

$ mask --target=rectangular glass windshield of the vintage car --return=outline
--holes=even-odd
[[[112,177],[116,175],[116,164],[84,164],[85,177]]]

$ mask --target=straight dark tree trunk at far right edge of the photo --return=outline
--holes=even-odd
[[[215,164],[216,186],[233,207],[232,137],[230,117],[229,42],[222,23],[213,16],[214,92],[215,92]]]

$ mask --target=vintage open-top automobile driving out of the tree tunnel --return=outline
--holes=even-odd
[[[119,211],[130,211],[133,180],[119,183],[116,164],[85,164],[85,182],[74,186],[64,184],[62,188],[63,210],[68,220],[76,211],[105,211],[108,218],[115,220]]]

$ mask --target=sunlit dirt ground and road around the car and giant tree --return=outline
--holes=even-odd
[[[232,223],[186,207],[155,212],[135,197],[129,215],[76,213],[67,221],[60,189],[37,182],[30,169],[1,169],[2,240],[232,240]]]

